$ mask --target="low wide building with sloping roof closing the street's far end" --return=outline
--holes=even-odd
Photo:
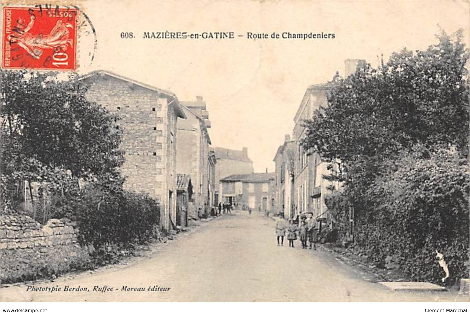
[[[255,211],[274,210],[274,173],[232,174],[220,180],[221,199]]]

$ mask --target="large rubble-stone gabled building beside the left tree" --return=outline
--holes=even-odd
[[[145,192],[160,203],[160,226],[176,225],[176,123],[186,118],[175,94],[108,71],[81,78],[87,98],[119,117],[125,188]]]

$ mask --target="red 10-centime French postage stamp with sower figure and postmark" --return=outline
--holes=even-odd
[[[75,70],[77,9],[3,8],[2,67]]]

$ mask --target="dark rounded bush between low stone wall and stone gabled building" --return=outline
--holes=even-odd
[[[106,264],[120,250],[156,235],[160,207],[146,194],[124,191],[113,181],[100,181],[59,201],[54,218],[62,217],[77,221],[80,244],[92,245],[92,257]]]

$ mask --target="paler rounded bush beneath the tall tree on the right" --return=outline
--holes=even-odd
[[[436,250],[444,255],[452,284],[469,272],[469,188],[467,162],[451,150],[429,157],[403,154],[376,180],[367,210],[355,210],[355,248],[379,266],[391,257],[414,281],[443,283]],[[327,202],[345,231],[347,194]],[[341,226],[343,225],[343,226]],[[342,228],[343,227],[343,228]]]

